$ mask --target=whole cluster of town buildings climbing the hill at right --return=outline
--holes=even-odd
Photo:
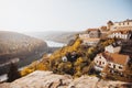
[[[97,54],[94,58],[95,69],[98,72],[107,70],[111,75],[132,78],[131,75],[124,74],[128,65],[132,64],[132,20],[121,22],[108,21],[106,26],[98,29],[88,29],[85,33],[79,34],[82,45],[97,46],[100,40],[116,38],[117,41],[105,47],[105,51]],[[101,73],[106,75],[106,73]]]

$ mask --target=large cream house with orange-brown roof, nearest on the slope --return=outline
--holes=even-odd
[[[130,61],[129,55],[113,54],[113,53],[100,53],[95,57],[95,69],[103,70],[106,66],[109,67],[110,73],[125,70],[127,65]]]

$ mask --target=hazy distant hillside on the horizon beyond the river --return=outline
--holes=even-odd
[[[70,40],[75,38],[75,34],[77,33],[78,32],[47,31],[47,32],[25,32],[24,34],[35,36],[41,40],[48,40],[67,44]]]

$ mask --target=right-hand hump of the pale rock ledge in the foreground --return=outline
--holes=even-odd
[[[68,88],[132,88],[132,82],[103,80],[96,76],[81,76],[69,84]]]

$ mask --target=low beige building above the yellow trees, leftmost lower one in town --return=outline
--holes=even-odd
[[[84,38],[82,45],[96,46],[100,42],[100,38]]]

